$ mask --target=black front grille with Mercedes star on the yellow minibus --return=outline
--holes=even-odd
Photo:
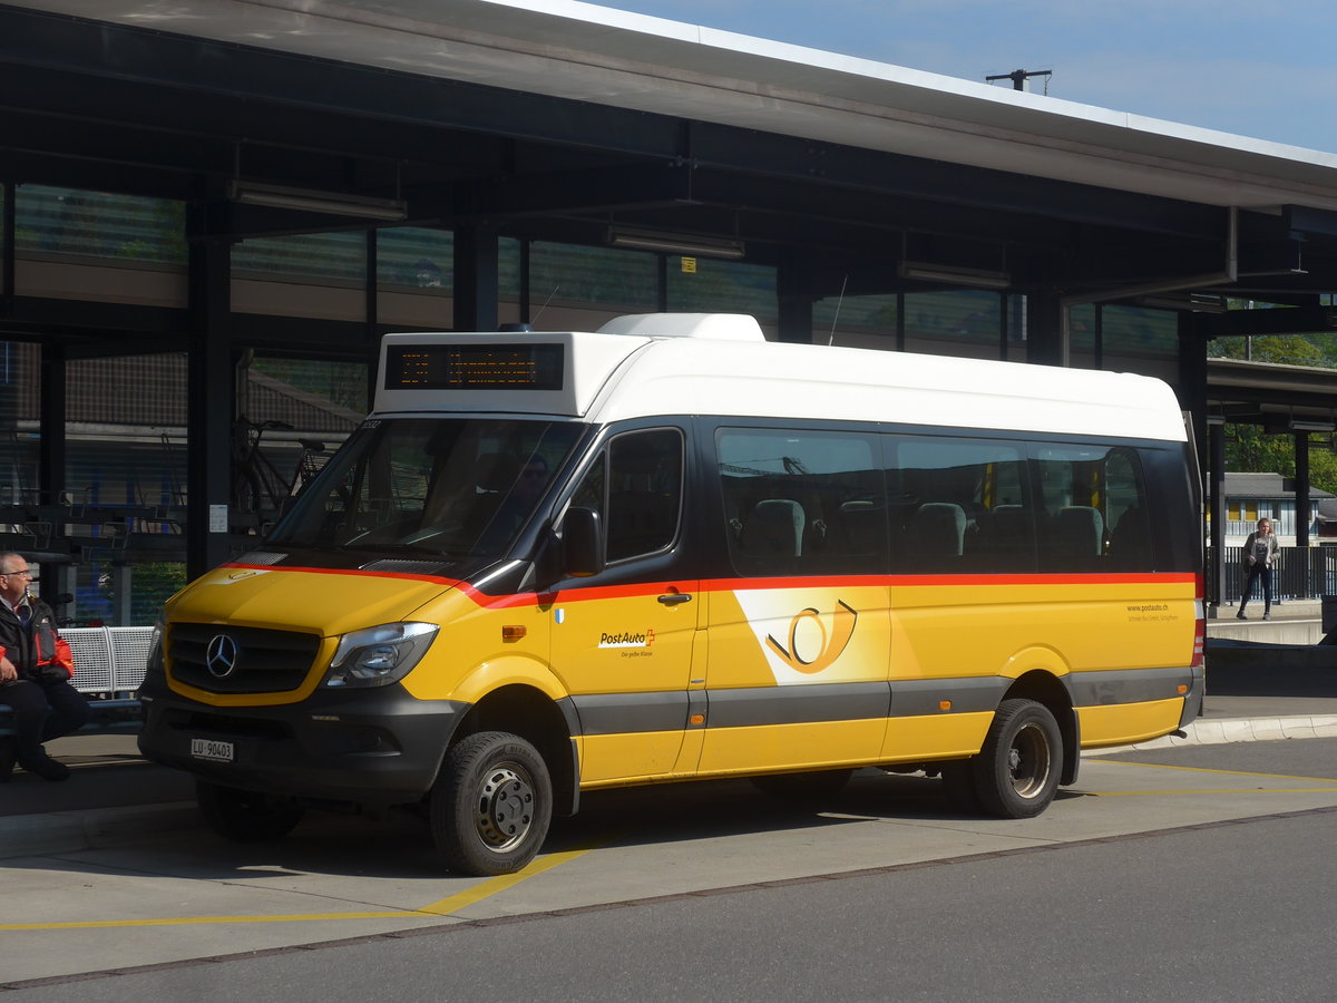
[[[217,647],[235,651],[233,669],[215,661],[207,665],[209,647],[215,638],[226,641]],[[217,623],[172,623],[167,629],[167,666],[172,678],[207,693],[286,693],[306,681],[321,639],[314,634],[291,630],[230,627]]]

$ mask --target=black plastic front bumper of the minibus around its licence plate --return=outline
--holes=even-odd
[[[400,686],[317,690],[301,703],[214,707],[160,677],[140,690],[139,750],[214,784],[293,797],[389,806],[417,801],[469,706],[422,701]],[[233,760],[191,754],[191,740],[230,742]]]

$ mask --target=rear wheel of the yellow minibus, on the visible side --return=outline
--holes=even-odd
[[[975,792],[985,812],[1000,818],[1034,818],[1059,789],[1059,723],[1042,703],[1005,699],[972,764]]]

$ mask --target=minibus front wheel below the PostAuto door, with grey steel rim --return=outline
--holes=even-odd
[[[519,871],[552,821],[548,766],[519,736],[472,734],[445,754],[428,821],[451,871],[479,877]]]

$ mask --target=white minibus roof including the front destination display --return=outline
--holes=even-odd
[[[440,366],[453,366],[453,374]],[[592,333],[385,336],[376,413],[443,411],[595,423],[671,415],[836,419],[1186,439],[1174,393],[1151,377],[767,342],[757,321],[741,314],[638,314]]]

